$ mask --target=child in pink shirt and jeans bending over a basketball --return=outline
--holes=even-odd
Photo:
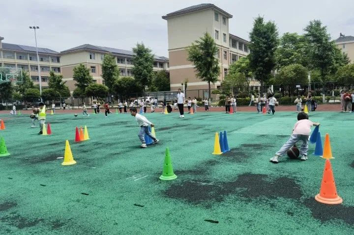
[[[275,153],[275,156],[270,158],[270,161],[273,163],[278,163],[278,158],[283,156],[294,144],[302,140],[302,145],[300,147],[301,160],[307,159],[307,150],[308,150],[308,138],[311,133],[312,126],[319,126],[320,123],[311,122],[308,120],[308,115],[304,112],[299,112],[297,114],[297,122],[295,123],[293,133],[290,136],[290,139],[280,148],[278,152]]]

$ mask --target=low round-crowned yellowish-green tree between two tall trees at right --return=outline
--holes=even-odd
[[[289,96],[293,94],[295,86],[301,83],[308,83],[308,72],[300,64],[291,64],[284,66],[275,75],[275,82],[288,88]]]

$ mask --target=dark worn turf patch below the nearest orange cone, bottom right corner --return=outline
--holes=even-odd
[[[340,219],[354,225],[354,207],[345,207],[341,204],[327,205],[317,202],[314,198],[306,199],[303,204],[311,210],[312,216],[321,222]]]

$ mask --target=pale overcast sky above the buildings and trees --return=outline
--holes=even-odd
[[[311,20],[321,20],[332,39],[354,36],[353,0],[1,0],[0,36],[4,43],[64,51],[82,44],[131,50],[143,42],[168,57],[167,13],[200,3],[213,3],[233,15],[229,31],[248,40],[258,15],[273,21],[279,35],[303,33]]]

